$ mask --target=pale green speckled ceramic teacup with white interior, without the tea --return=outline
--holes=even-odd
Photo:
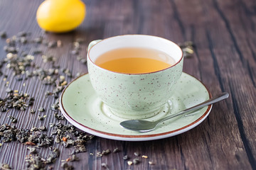
[[[102,69],[97,57],[122,47],[144,47],[166,52],[176,62],[173,66],[144,74],[124,74]],[[151,35],[119,35],[92,41],[88,47],[87,66],[97,95],[114,115],[125,119],[143,119],[156,115],[174,94],[183,69],[183,53],[170,40]],[[166,59],[168,60],[168,59]]]

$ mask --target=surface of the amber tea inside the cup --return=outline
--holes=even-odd
[[[175,61],[159,50],[125,47],[105,52],[97,58],[95,64],[112,72],[140,74],[166,69]]]

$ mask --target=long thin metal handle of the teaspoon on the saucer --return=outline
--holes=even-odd
[[[179,113],[176,113],[174,115],[169,115],[169,116],[166,116],[165,118],[161,118],[161,119],[157,120],[156,123],[158,124],[158,123],[164,122],[165,120],[168,120],[170,118],[174,118],[174,117],[176,117],[178,115],[183,115],[184,113],[188,113],[188,112],[191,112],[191,111],[196,111],[199,108],[203,108],[205,106],[208,106],[210,104],[216,103],[218,101],[222,101],[223,99],[228,98],[228,96],[229,96],[229,94],[227,92],[224,92],[223,94],[220,94],[219,96],[216,96],[214,98],[210,98],[209,100],[204,101],[203,103],[199,103],[196,106],[193,106],[191,108],[187,108],[187,109],[185,109],[185,110],[183,110],[183,111],[181,111]]]

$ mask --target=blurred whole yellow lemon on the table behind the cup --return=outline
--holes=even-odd
[[[46,0],[38,7],[36,20],[44,30],[64,33],[77,28],[85,19],[85,12],[80,0]]]

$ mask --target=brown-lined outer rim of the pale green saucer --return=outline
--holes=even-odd
[[[60,95],[60,99],[59,99],[60,100],[60,111],[64,115],[64,117],[68,120],[68,122],[75,125],[75,127],[79,128],[80,130],[83,130],[85,132],[88,132],[92,135],[99,136],[99,137],[104,137],[104,138],[111,139],[111,140],[126,140],[126,141],[159,140],[159,139],[163,139],[163,138],[166,138],[166,137],[171,137],[171,136],[178,135],[178,134],[181,134],[183,132],[186,132],[188,130],[191,130],[192,128],[195,128],[197,125],[202,123],[203,120],[205,120],[208,117],[208,114],[210,113],[211,109],[213,108],[213,104],[209,105],[207,110],[205,111],[205,113],[203,113],[203,115],[201,115],[201,117],[198,118],[197,120],[193,121],[192,123],[190,123],[186,126],[183,126],[182,128],[178,128],[176,130],[171,130],[171,131],[168,131],[168,132],[149,134],[149,135],[146,135],[146,132],[143,132],[143,133],[138,132],[138,135],[121,135],[121,134],[115,134],[115,133],[109,133],[109,132],[103,132],[103,131],[100,131],[100,130],[95,130],[93,128],[87,127],[86,125],[82,125],[82,123],[78,123],[78,121],[74,120],[68,114],[68,112],[65,111],[65,108],[63,106],[63,95],[65,94],[65,90],[68,89],[70,84],[72,84],[74,81],[77,81],[78,79],[84,77],[87,74],[88,73],[85,73],[85,74],[80,75],[80,77],[76,77],[75,79],[70,81],[70,83],[65,87],[65,89],[63,89],[63,91]],[[193,77],[190,74],[187,74],[185,72],[182,72],[182,74],[186,74],[189,77]],[[208,90],[206,85],[204,85],[196,77],[193,77],[193,78],[196,79],[197,81],[199,81],[205,87],[205,89],[208,92],[209,98],[212,98],[212,95],[210,94],[210,91]],[[121,125],[120,125],[120,128],[122,128]],[[145,135],[143,135],[143,134],[145,134]]]

